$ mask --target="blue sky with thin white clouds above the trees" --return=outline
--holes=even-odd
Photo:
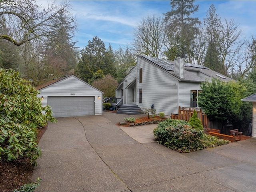
[[[239,24],[242,38],[256,35],[256,0],[195,1],[199,9],[194,16],[203,22],[212,3],[222,21],[224,18],[233,18]],[[162,15],[171,10],[169,0],[71,0],[70,5],[78,25],[74,41],[78,41],[76,47],[79,49],[85,48],[94,36],[99,37],[106,48],[109,44],[114,50],[120,46],[125,48],[132,43],[134,29],[143,18],[153,14]]]

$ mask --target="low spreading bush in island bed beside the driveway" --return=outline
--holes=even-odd
[[[202,130],[192,128],[183,120],[168,119],[160,122],[153,133],[158,143],[178,152],[192,152],[229,143],[215,136],[206,135]]]

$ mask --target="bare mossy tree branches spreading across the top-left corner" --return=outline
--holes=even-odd
[[[1,32],[0,39],[20,46],[34,39],[46,39],[60,30],[60,26],[69,27],[69,30],[76,29],[75,25],[70,26],[74,23],[74,18],[69,12],[68,2],[49,1],[47,8],[37,3],[28,0],[18,1],[16,6],[0,6],[0,22],[5,22],[12,31],[12,35]],[[67,25],[62,25],[63,23]]]

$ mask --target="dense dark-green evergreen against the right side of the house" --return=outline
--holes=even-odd
[[[248,110],[248,103],[241,99],[255,92],[254,83],[247,80],[223,82],[212,78],[212,82],[202,82],[201,88],[198,104],[210,121],[222,124],[219,127],[221,133],[226,134],[227,121],[240,130],[248,128],[252,110]]]

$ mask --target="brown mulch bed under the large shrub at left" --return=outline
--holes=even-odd
[[[47,126],[38,129],[37,142],[46,131]],[[29,158],[21,158],[14,162],[4,162],[0,159],[0,191],[14,191],[19,186],[32,181],[34,167]]]

